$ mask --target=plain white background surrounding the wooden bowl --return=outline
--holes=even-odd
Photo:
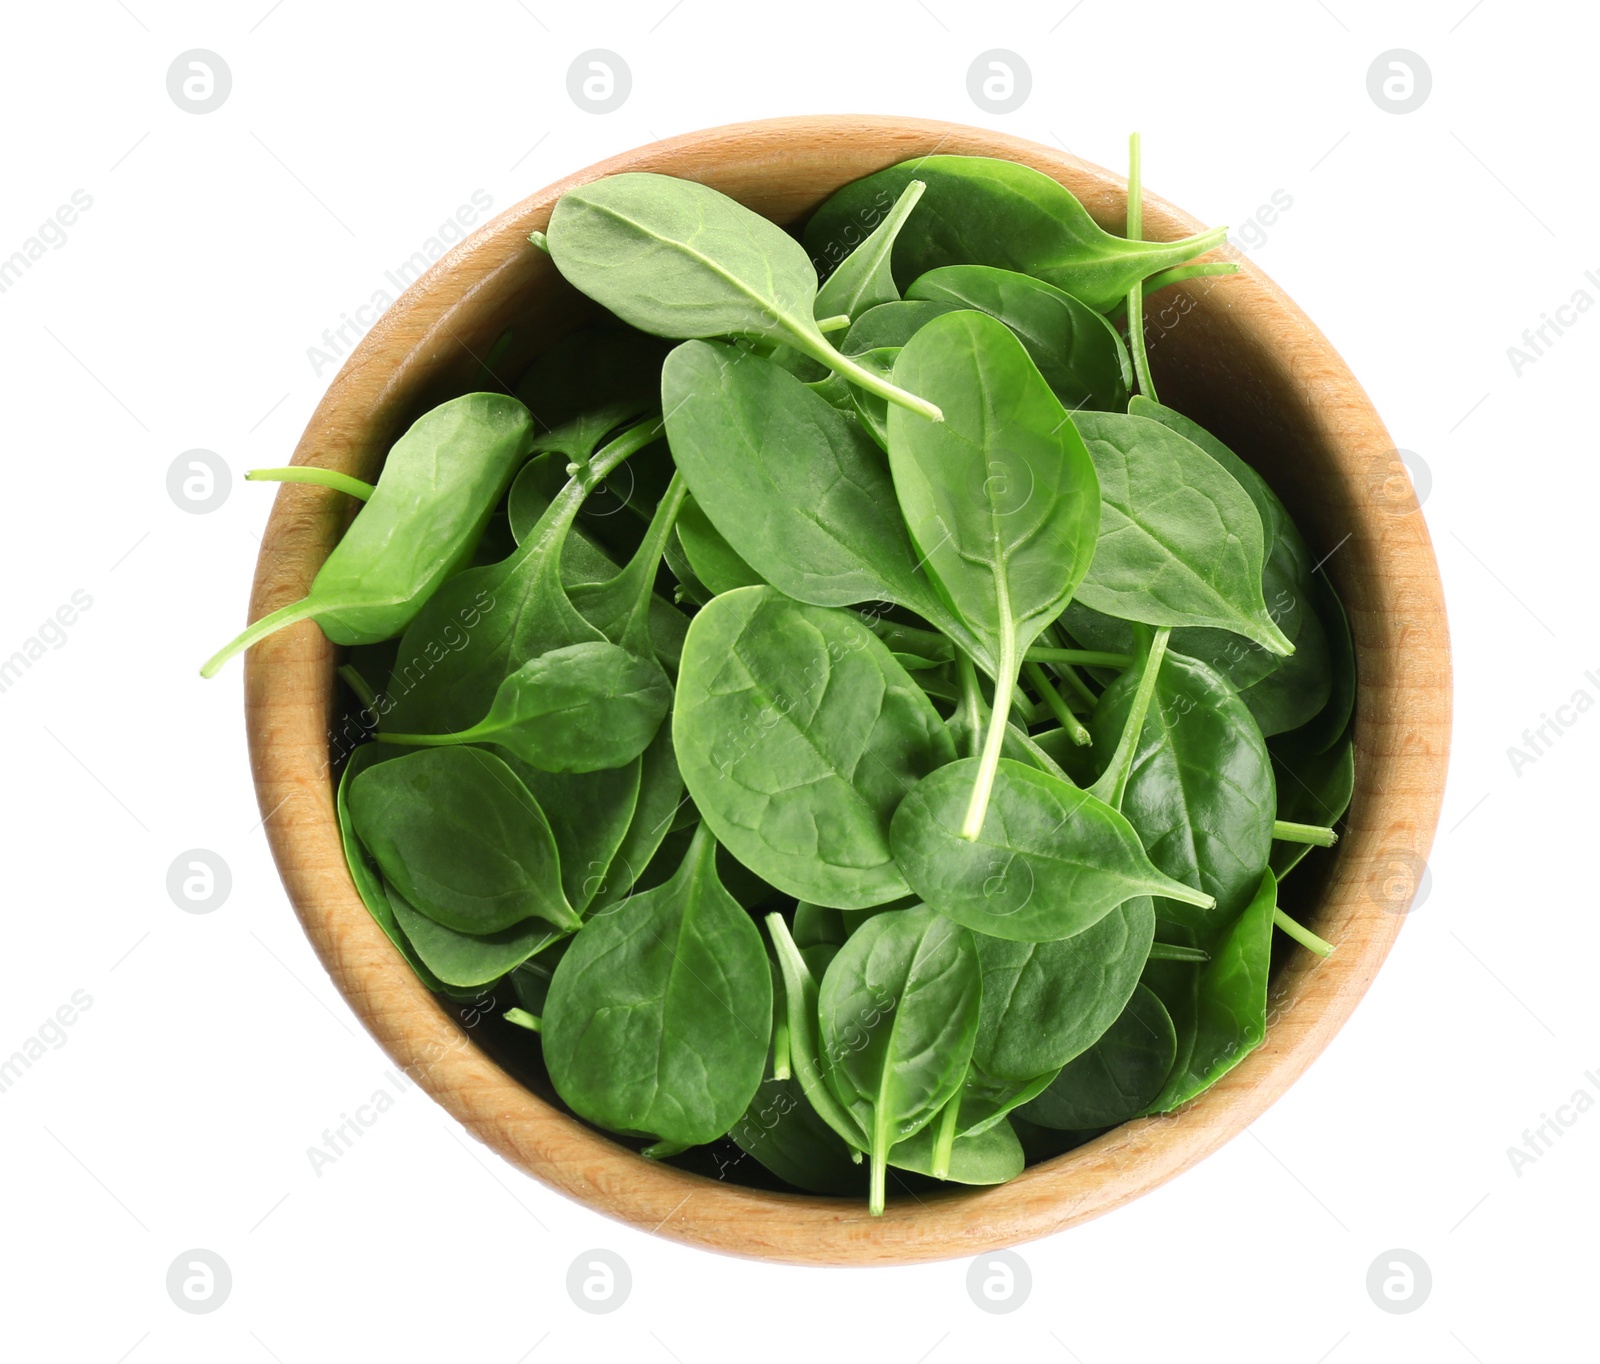
[[[74,991],[93,1005],[0,1093],[0,1332],[14,1359],[302,1364],[610,1361],[1450,1361],[1595,1354],[1600,1116],[1514,1170],[1507,1148],[1600,1095],[1594,773],[1600,716],[1517,773],[1507,748],[1584,690],[1594,639],[1592,376],[1581,315],[1507,359],[1600,271],[1594,54],[1576,5],[1056,0],[752,5],[8,6],[0,258],[74,191],[93,207],[0,295],[0,656],[82,589],[59,647],[0,693],[0,1057]],[[1469,10],[1469,6],[1472,6]],[[227,61],[213,114],[166,93]],[[610,48],[634,88],[581,110]],[[1034,88],[966,93],[1008,48]],[[1416,112],[1366,70],[1419,53]],[[240,669],[197,664],[243,620],[272,493],[331,370],[307,347],[474,191],[494,210],[603,155],[741,118],[885,112],[1002,126],[1122,166],[1208,223],[1293,199],[1254,258],[1322,325],[1430,475],[1456,738],[1427,901],[1350,1025],[1230,1146],[1093,1225],[1022,1247],[1032,1297],[978,1311],[966,1263],[794,1270],[600,1218],[501,1164],[419,1090],[320,1172],[307,1148],[387,1061],[310,953],[258,828]],[[235,474],[218,511],[166,493],[186,450]],[[1419,479],[1421,483],[1421,479]],[[234,889],[179,913],[210,848]],[[1573,1111],[1566,1111],[1573,1116]],[[234,1289],[165,1290],[205,1247]],[[568,1298],[590,1247],[632,1270],[610,1316]],[[1432,1297],[1379,1311],[1392,1247]],[[530,1353],[531,1351],[531,1353]]]

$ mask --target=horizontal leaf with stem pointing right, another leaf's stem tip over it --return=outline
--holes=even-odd
[[[965,837],[976,764],[941,767],[894,812],[894,860],[941,914],[995,938],[1043,943],[1082,933],[1138,895],[1211,903],[1163,874],[1110,805],[1011,759],[998,762],[982,831]]]

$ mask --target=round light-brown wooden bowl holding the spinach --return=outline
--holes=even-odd
[[[586,304],[526,242],[574,184],[626,170],[698,179],[776,223],[834,189],[928,152],[1008,157],[1072,189],[1122,229],[1125,181],[1051,147],[986,128],[882,117],[774,118],[669,138],[589,166],[478,229],[366,335],[317,407],[294,463],[371,479],[405,426],[485,386],[480,357],[512,323],[515,376]],[[1146,235],[1202,224],[1147,197]],[[1147,320],[1163,400],[1254,463],[1304,528],[1344,597],[1360,696],[1349,828],[1310,903],[1328,961],[1285,953],[1266,1044],[1200,1098],[1130,1122],[1008,1185],[866,1206],[766,1193],[650,1162],[531,1093],[411,975],[350,884],[333,807],[334,650],[315,624],[251,650],[245,719],[267,837],[323,965],[395,1063],[480,1140],[530,1175],[635,1226],[714,1250],[808,1265],[974,1255],[1099,1217],[1170,1180],[1253,1122],[1349,1017],[1410,905],[1438,820],[1450,740],[1450,640],[1438,567],[1382,421],[1333,347],[1253,264],[1158,295]],[[531,333],[531,339],[530,338]],[[342,532],[347,499],[285,485],[251,594],[251,618],[304,596]],[[1290,882],[1293,885],[1293,881]]]

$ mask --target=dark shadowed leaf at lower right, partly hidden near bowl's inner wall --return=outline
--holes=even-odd
[[[1141,985],[1106,1034],[1021,1114],[1062,1130],[1115,1127],[1144,1113],[1162,1092],[1176,1055],[1173,1020],[1155,993]]]

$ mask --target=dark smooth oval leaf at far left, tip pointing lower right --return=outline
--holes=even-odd
[[[376,764],[350,781],[349,808],[384,881],[445,927],[578,927],[550,824],[494,754],[437,748]]]

